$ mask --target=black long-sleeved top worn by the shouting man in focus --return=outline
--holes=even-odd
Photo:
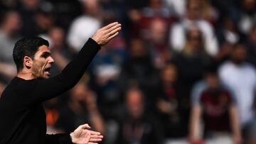
[[[67,134],[46,135],[42,102],[75,86],[98,50],[100,46],[89,39],[57,76],[31,80],[15,77],[0,99],[0,143],[71,143]]]

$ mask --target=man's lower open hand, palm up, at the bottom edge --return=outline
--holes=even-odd
[[[77,144],[97,144],[102,141],[103,136],[99,132],[90,131],[90,126],[84,124],[71,133],[72,143]]]

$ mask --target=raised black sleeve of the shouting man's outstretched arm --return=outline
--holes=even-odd
[[[100,50],[100,46],[90,38],[80,50],[78,56],[60,74],[50,79],[33,81],[34,87],[30,94],[32,97],[28,102],[33,104],[36,101],[46,101],[74,87],[98,50]]]

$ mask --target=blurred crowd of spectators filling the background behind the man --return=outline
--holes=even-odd
[[[44,104],[48,133],[89,123],[105,144],[256,143],[256,0],[0,0],[0,94],[19,38],[49,41],[55,75],[114,21],[119,36]]]

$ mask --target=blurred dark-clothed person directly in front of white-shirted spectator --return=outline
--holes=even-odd
[[[174,63],[178,68],[178,82],[183,85],[181,95],[186,96],[188,101],[191,96],[191,88],[195,82],[202,79],[203,70],[211,64],[212,60],[203,47],[203,35],[198,28],[187,31],[186,46],[174,56]]]

